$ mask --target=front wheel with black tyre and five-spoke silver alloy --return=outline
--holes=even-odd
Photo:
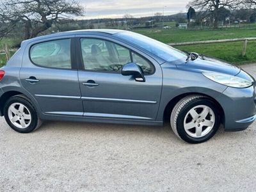
[[[181,140],[202,143],[212,138],[220,127],[220,112],[208,97],[190,95],[175,105],[170,123]]]

